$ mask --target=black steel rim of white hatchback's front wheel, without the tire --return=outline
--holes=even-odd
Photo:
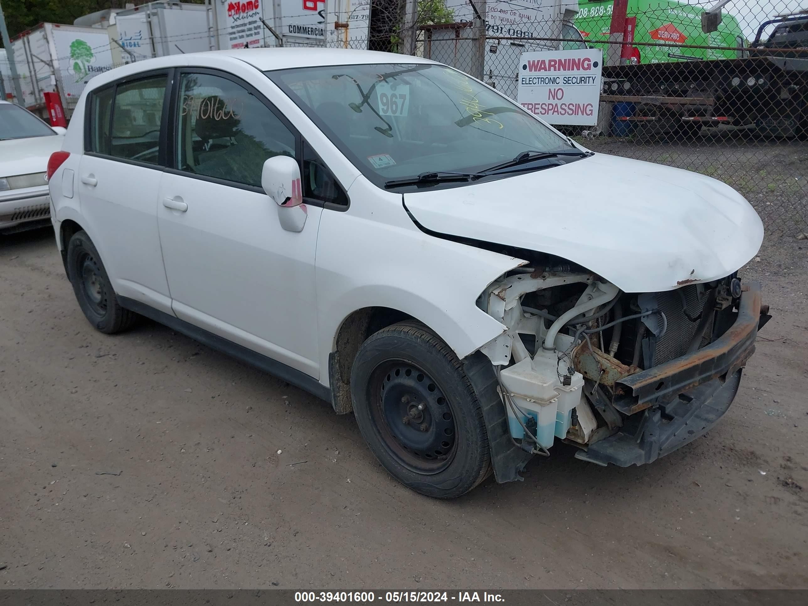
[[[373,370],[369,390],[371,422],[400,465],[433,474],[452,463],[455,411],[427,372],[406,360],[387,360]]]

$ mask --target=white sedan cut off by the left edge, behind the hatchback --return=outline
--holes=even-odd
[[[51,128],[14,103],[0,101],[0,232],[50,223],[50,154],[61,149],[65,128]]]

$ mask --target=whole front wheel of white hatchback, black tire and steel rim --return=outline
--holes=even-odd
[[[354,360],[351,396],[373,454],[412,490],[454,499],[490,474],[480,402],[461,361],[426,326],[402,322],[370,336]]]

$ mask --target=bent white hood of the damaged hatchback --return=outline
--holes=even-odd
[[[557,255],[624,292],[723,278],[763,242],[760,217],[725,183],[606,154],[404,204],[426,229]]]

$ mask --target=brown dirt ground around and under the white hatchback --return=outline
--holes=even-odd
[[[774,318],[734,406],[653,465],[564,445],[439,502],[351,415],[151,322],[83,318],[48,230],[0,239],[0,583],[808,587],[808,242],[747,276]]]

